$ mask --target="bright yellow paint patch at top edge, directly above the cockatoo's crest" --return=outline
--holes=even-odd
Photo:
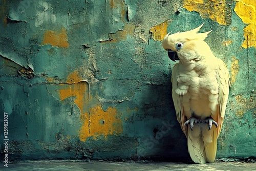
[[[221,25],[231,24],[231,8],[227,0],[184,0],[184,8],[197,11],[202,18],[210,18]]]

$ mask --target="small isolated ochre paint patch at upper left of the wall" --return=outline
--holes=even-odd
[[[44,33],[44,38],[42,39],[42,45],[51,44],[58,48],[68,48],[68,35],[67,30],[62,27],[59,32],[48,30]]]

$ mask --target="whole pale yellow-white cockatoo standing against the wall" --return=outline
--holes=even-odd
[[[189,155],[195,163],[212,163],[230,82],[225,63],[212,54],[204,41],[211,31],[198,33],[202,26],[168,33],[162,46],[170,59],[179,60],[172,71],[172,96],[177,119],[187,137]]]

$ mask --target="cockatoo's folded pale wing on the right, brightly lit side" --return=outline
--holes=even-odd
[[[217,112],[217,122],[219,126],[217,127],[217,138],[219,137],[221,132],[230,87],[229,73],[227,67],[225,63],[220,59],[218,63],[219,65],[216,72],[216,77],[219,84],[219,109]]]

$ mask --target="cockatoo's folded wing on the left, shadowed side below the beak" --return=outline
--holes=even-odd
[[[179,71],[179,63],[176,63],[176,65],[173,68],[172,79],[171,79],[172,83],[173,83],[172,96],[173,96],[177,120],[180,123],[180,127],[181,127],[183,133],[187,137],[187,126],[184,125],[184,123],[186,122],[186,118],[185,118],[184,110],[183,110],[182,95],[178,95],[175,92],[175,90],[177,89],[178,84],[179,84],[177,81],[177,77],[179,75],[178,71]]]

